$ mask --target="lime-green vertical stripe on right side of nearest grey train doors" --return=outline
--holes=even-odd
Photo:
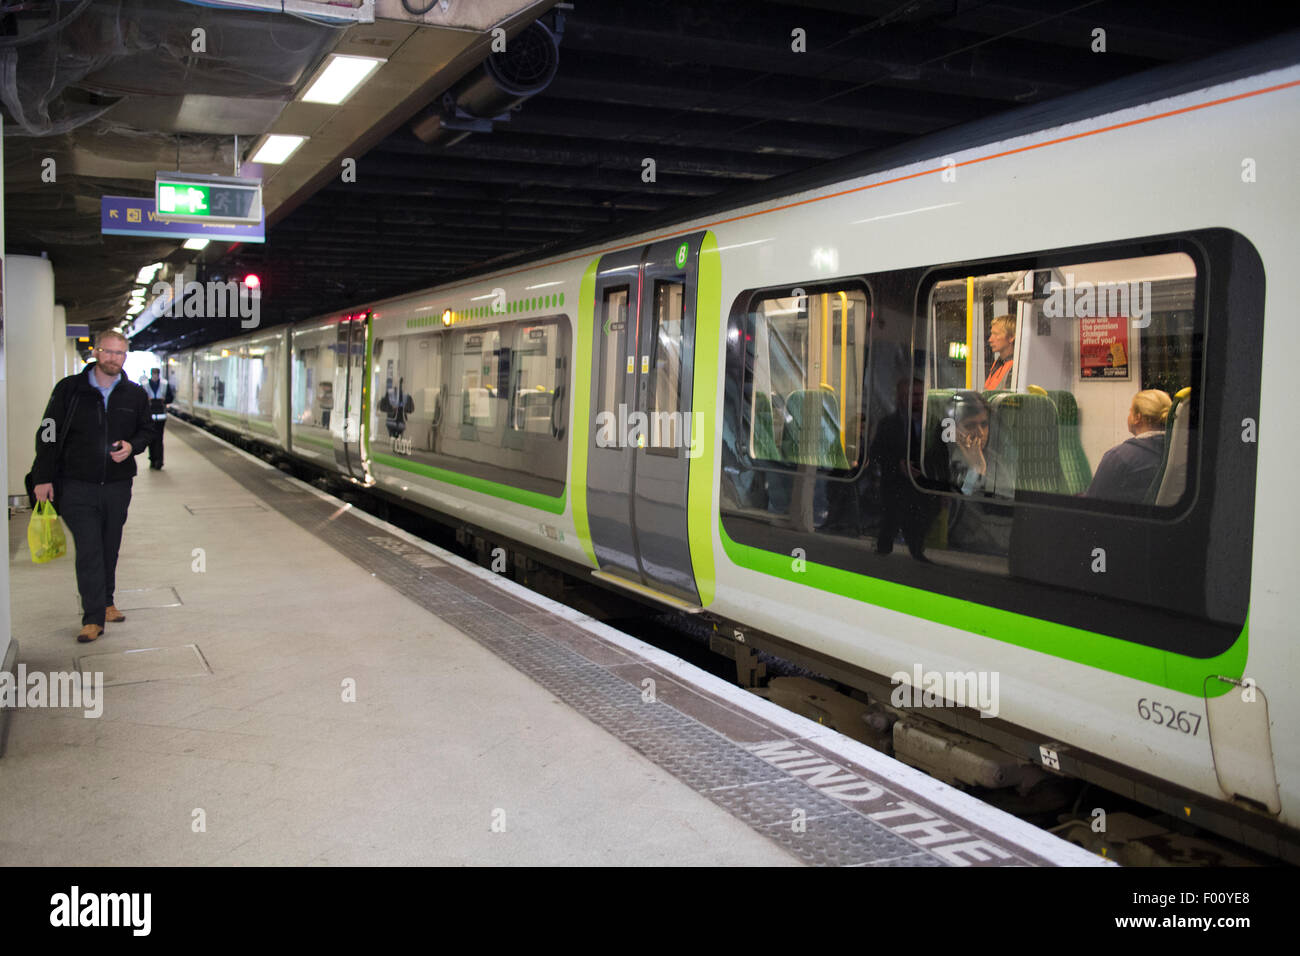
[[[705,233],[699,243],[696,269],[696,372],[692,398],[692,423],[706,421],[703,434],[690,441],[702,454],[690,459],[686,483],[686,537],[690,545],[690,567],[696,575],[699,605],[712,604],[714,580],[714,473],[712,424],[718,414],[718,360],[722,347],[723,276],[718,255],[718,237]],[[697,444],[698,442],[698,444]],[[707,449],[707,450],[706,450]]]

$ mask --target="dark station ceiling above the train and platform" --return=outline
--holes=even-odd
[[[456,14],[462,3],[450,0],[443,13]],[[10,7],[42,4],[4,5]],[[160,18],[178,17],[177,8],[192,18],[198,9],[162,0],[96,7],[134,7],[136,16]],[[268,203],[264,245],[213,243],[202,254],[172,256],[182,263],[198,255],[208,277],[257,273],[266,326],[433,286],[520,255],[545,255],[611,230],[633,230],[686,215],[746,185],[1300,26],[1294,5],[1260,5],[1243,16],[1231,5],[1136,7],[1124,0],[551,0],[498,7],[497,20],[471,25],[376,23],[347,31],[278,13],[203,8],[212,25],[256,18],[265,33],[276,21],[280,40],[231,52],[238,62],[226,64],[230,69],[178,77],[159,70],[165,90],[151,87],[147,57],[136,61],[143,72],[120,77],[117,90],[74,79],[53,104],[51,129],[75,111],[101,107],[116,92],[126,105],[95,121],[110,121],[116,111],[116,126],[108,133],[88,129],[99,130],[105,148],[124,148],[117,139],[129,143],[133,135],[150,144],[148,133],[160,125],[146,108],[151,96],[225,90],[235,98],[248,77],[270,78],[274,87],[268,94],[259,86],[251,98],[269,95],[294,109],[295,91],[321,59],[365,36],[389,36],[394,49],[424,43],[417,62],[441,57],[422,74],[412,68],[399,81],[387,81],[386,105],[370,111],[377,116],[341,127],[355,139],[321,152],[313,168],[281,187]],[[0,25],[0,61],[13,52],[5,33],[22,34],[13,16]],[[469,79],[462,77],[491,52],[493,23],[504,23],[515,38],[537,17],[558,38],[558,68],[545,90],[510,109],[508,120],[478,124],[478,131],[452,144],[416,134],[419,127],[428,137],[441,95],[456,81],[452,92],[463,88]],[[402,33],[407,29],[413,30],[410,36]],[[1093,49],[1098,29],[1105,31],[1105,52]],[[437,30],[442,33],[430,39]],[[105,48],[120,43],[104,36]],[[520,55],[517,47],[515,52]],[[65,187],[39,185],[31,178],[32,160],[48,144],[77,134],[32,134],[16,124],[14,98],[0,95],[0,101],[6,250],[51,255],[56,295],[68,306],[70,323],[117,324],[135,271],[173,254],[177,243],[99,237],[98,195],[151,194],[152,172],[146,185],[139,169],[113,176],[124,170],[87,160],[91,174],[70,177]],[[238,122],[231,125],[248,126],[252,112],[255,104],[246,103],[233,112]],[[176,148],[177,140],[190,150],[181,157],[186,170],[229,173],[234,153],[224,146],[229,138],[221,137],[217,113],[205,135],[176,134],[164,125],[159,151]],[[96,139],[86,130],[74,146],[88,156]],[[337,172],[341,155],[356,160],[355,181],[344,182]],[[150,155],[142,163],[161,159]],[[653,182],[644,176],[647,159],[654,160]],[[138,334],[135,347],[174,349],[237,332],[237,320],[160,320]]]

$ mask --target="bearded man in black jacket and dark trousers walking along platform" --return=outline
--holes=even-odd
[[[96,362],[55,385],[36,429],[36,501],[55,501],[77,545],[82,644],[104,633],[105,622],[126,620],[113,606],[117,551],[135,455],[155,434],[148,395],[122,375],[126,350],[120,332],[99,333]]]

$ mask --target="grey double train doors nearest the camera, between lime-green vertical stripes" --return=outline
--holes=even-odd
[[[701,239],[601,259],[586,477],[601,570],[690,605],[699,604],[686,479]]]

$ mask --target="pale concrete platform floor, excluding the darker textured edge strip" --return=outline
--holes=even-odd
[[[32,564],[20,514],[13,635],[29,672],[186,644],[212,672],[107,687],[98,719],[13,711],[0,864],[798,864],[257,507],[174,428],[164,471],[136,459],[117,575],[126,622],[77,644],[72,554]],[[179,606],[125,610],[170,601],[131,589],[165,588]]]

